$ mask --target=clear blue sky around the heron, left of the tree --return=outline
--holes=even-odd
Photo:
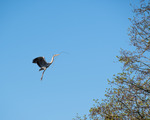
[[[71,120],[103,99],[137,0],[1,0],[0,120]],[[41,81],[38,56],[50,62]]]

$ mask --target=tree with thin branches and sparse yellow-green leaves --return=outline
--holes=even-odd
[[[150,1],[142,0],[133,12],[129,37],[135,49],[122,49],[117,56],[123,70],[108,80],[106,99],[95,100],[92,120],[150,120]]]

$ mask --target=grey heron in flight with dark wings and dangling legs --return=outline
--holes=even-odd
[[[58,56],[58,55],[60,55],[60,54],[53,55],[51,62],[46,62],[44,57],[37,57],[37,58],[33,59],[32,63],[37,63],[37,65],[40,67],[39,71],[44,70],[42,73],[41,80],[43,79],[45,70],[53,63],[54,57]]]

